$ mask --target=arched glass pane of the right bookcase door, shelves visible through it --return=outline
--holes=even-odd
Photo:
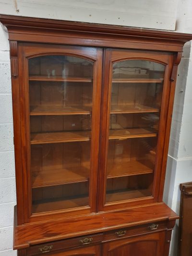
[[[165,66],[113,64],[106,203],[151,196]]]

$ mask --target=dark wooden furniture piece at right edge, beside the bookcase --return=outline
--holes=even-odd
[[[192,182],[180,184],[178,256],[192,255]]]

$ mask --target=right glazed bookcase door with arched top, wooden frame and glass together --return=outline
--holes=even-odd
[[[102,115],[103,133],[107,132],[101,140],[105,170],[101,207],[157,200],[171,58],[157,52],[106,50],[109,78],[105,77],[108,89],[103,95],[108,106]]]

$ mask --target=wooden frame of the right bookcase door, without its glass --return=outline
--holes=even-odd
[[[175,55],[171,53],[162,53],[158,51],[142,51],[142,50],[127,50],[127,49],[106,49],[104,57],[104,77],[102,89],[102,109],[101,109],[101,134],[100,134],[100,151],[99,151],[99,178],[98,178],[98,196],[97,210],[113,210],[123,207],[132,207],[135,205],[149,204],[162,201],[163,186],[165,179],[166,166],[162,166],[163,159],[167,158],[168,141],[170,127],[167,125],[170,122],[171,116],[168,116],[168,109],[172,108],[173,102],[170,101],[172,94],[174,95],[174,85],[171,83],[171,72]],[[112,80],[112,63],[122,60],[147,60],[155,61],[166,66],[161,115],[159,123],[159,135],[157,144],[156,170],[154,176],[154,190],[151,197],[138,199],[130,199],[127,201],[112,202],[105,205],[105,191],[107,179],[107,155],[108,155],[108,131],[109,131],[109,115],[110,115],[110,97],[111,97],[111,80]],[[173,88],[172,88],[173,87]],[[170,91],[172,90],[172,94]],[[160,155],[160,157],[159,157]]]

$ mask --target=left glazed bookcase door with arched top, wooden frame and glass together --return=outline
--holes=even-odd
[[[102,52],[67,46],[22,50],[29,215],[95,211]]]

